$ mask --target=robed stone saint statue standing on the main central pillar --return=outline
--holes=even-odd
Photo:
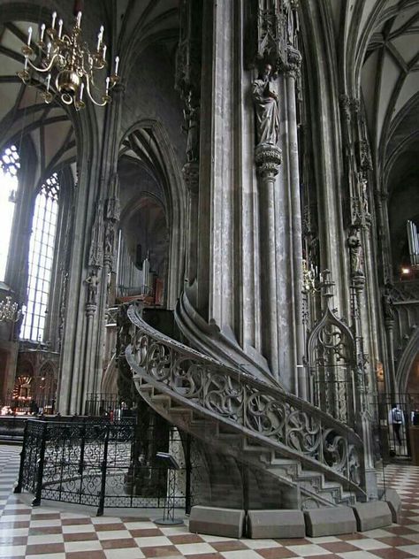
[[[272,85],[272,66],[267,64],[259,78],[253,82],[252,96],[255,103],[257,144],[278,144],[279,111],[278,93]]]

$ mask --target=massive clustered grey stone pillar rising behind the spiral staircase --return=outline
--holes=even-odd
[[[241,0],[203,3],[199,85],[191,5],[182,3],[177,83],[187,123],[186,279],[194,289],[179,305],[179,327],[209,355],[304,396],[304,375],[297,379],[303,356],[297,3],[264,2],[257,13]],[[245,60],[248,27],[257,34],[251,60]]]

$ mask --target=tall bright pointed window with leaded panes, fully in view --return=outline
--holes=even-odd
[[[55,172],[36,196],[29,246],[27,311],[21,337],[42,341],[45,327],[58,217],[59,183]]]

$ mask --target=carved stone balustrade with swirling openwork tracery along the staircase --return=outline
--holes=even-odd
[[[347,425],[293,394],[171,340],[144,322],[134,304],[127,316],[134,328],[126,360],[134,374],[195,412],[364,493],[362,440]]]

